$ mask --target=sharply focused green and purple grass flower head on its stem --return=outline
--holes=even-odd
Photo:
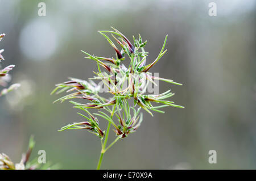
[[[82,51],[86,54],[85,58],[96,61],[98,71],[94,72],[96,76],[92,79],[97,79],[104,83],[104,86],[108,88],[107,92],[111,95],[110,98],[105,98],[100,95],[102,87],[94,83],[92,79],[84,81],[77,78],[69,78],[70,81],[57,84],[56,89],[51,93],[53,94],[56,92],[56,94],[60,94],[64,91],[71,92],[60,99],[57,99],[55,102],[64,102],[65,100],[75,98],[89,101],[89,103],[86,104],[70,101],[70,103],[74,104],[74,108],[80,109],[89,116],[79,113],[79,115],[86,121],[68,124],[59,131],[67,129],[87,129],[89,132],[100,137],[102,149],[97,169],[100,169],[101,167],[104,153],[109,150],[115,142],[121,138],[127,137],[130,133],[135,132],[141,125],[143,119],[142,113],[139,113],[141,108],[150,113],[151,116],[153,116],[152,111],[164,113],[164,111],[159,110],[159,108],[163,107],[172,106],[184,108],[183,106],[174,104],[174,102],[170,100],[166,100],[174,95],[171,90],[163,92],[162,94],[145,94],[145,91],[143,91],[148,83],[155,84],[154,80],[181,85],[171,79],[152,76],[152,73],[149,72],[152,66],[154,66],[163,54],[166,53],[167,49],[164,50],[164,47],[166,45],[167,36],[158,57],[153,62],[146,65],[148,52],[144,50],[144,46],[147,41],[143,42],[141,35],[139,35],[138,39],[135,39],[133,36],[132,44],[121,32],[114,28],[113,30],[114,31],[98,32],[100,32],[114,48],[115,58],[93,56]],[[113,39],[117,41],[122,48],[121,50],[115,46],[113,41],[106,35],[107,33],[112,34]],[[125,61],[125,55],[130,59],[128,68],[121,64],[122,61]],[[103,72],[101,67],[104,68],[106,72]],[[127,87],[124,86],[126,82],[128,83]],[[130,105],[131,103],[129,103],[129,99],[133,100],[132,105]],[[154,103],[159,103],[160,106],[153,106]],[[98,112],[91,113],[89,112],[90,109],[98,110]],[[100,121],[96,116],[101,117],[108,122],[106,131],[103,131],[102,128],[100,128]],[[109,144],[109,146],[107,146],[109,131],[112,126],[116,138]]]

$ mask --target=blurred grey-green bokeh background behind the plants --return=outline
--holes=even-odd
[[[138,131],[105,154],[102,169],[256,169],[255,1],[56,0],[42,1],[46,16],[38,16],[39,2],[0,1],[1,65],[15,64],[11,82],[22,85],[0,99],[0,152],[19,162],[34,134],[32,157],[43,149],[60,169],[96,168],[100,140],[86,131],[57,132],[82,119],[49,94],[67,77],[93,77],[96,64],[80,50],[114,56],[97,32],[113,26],[148,40],[148,62],[168,34],[168,52],[152,72],[184,84],[159,86],[171,88],[185,109],[144,112]],[[210,2],[217,16],[208,15]],[[212,149],[217,164],[208,163]]]

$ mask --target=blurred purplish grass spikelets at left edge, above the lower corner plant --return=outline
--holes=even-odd
[[[5,33],[0,34],[0,41],[3,39],[4,36],[5,36]],[[3,53],[3,49],[0,50],[0,62],[2,60],[5,60],[2,56],[2,53]],[[0,65],[0,86],[3,86],[3,87],[7,86],[7,82],[10,81],[9,71],[11,71],[14,67],[15,65],[9,65],[6,68],[1,69],[1,65]],[[15,83],[11,85],[9,88],[3,89],[2,91],[0,91],[0,96],[5,95],[12,90],[17,89],[19,86],[20,86],[19,83]]]

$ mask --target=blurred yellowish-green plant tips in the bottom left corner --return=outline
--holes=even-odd
[[[28,144],[28,150],[26,154],[22,155],[22,159],[19,163],[13,163],[11,159],[4,153],[0,154],[0,170],[35,170],[35,169],[49,169],[49,164],[39,164],[37,159],[29,161],[32,150],[35,146],[34,137],[30,137]]]

